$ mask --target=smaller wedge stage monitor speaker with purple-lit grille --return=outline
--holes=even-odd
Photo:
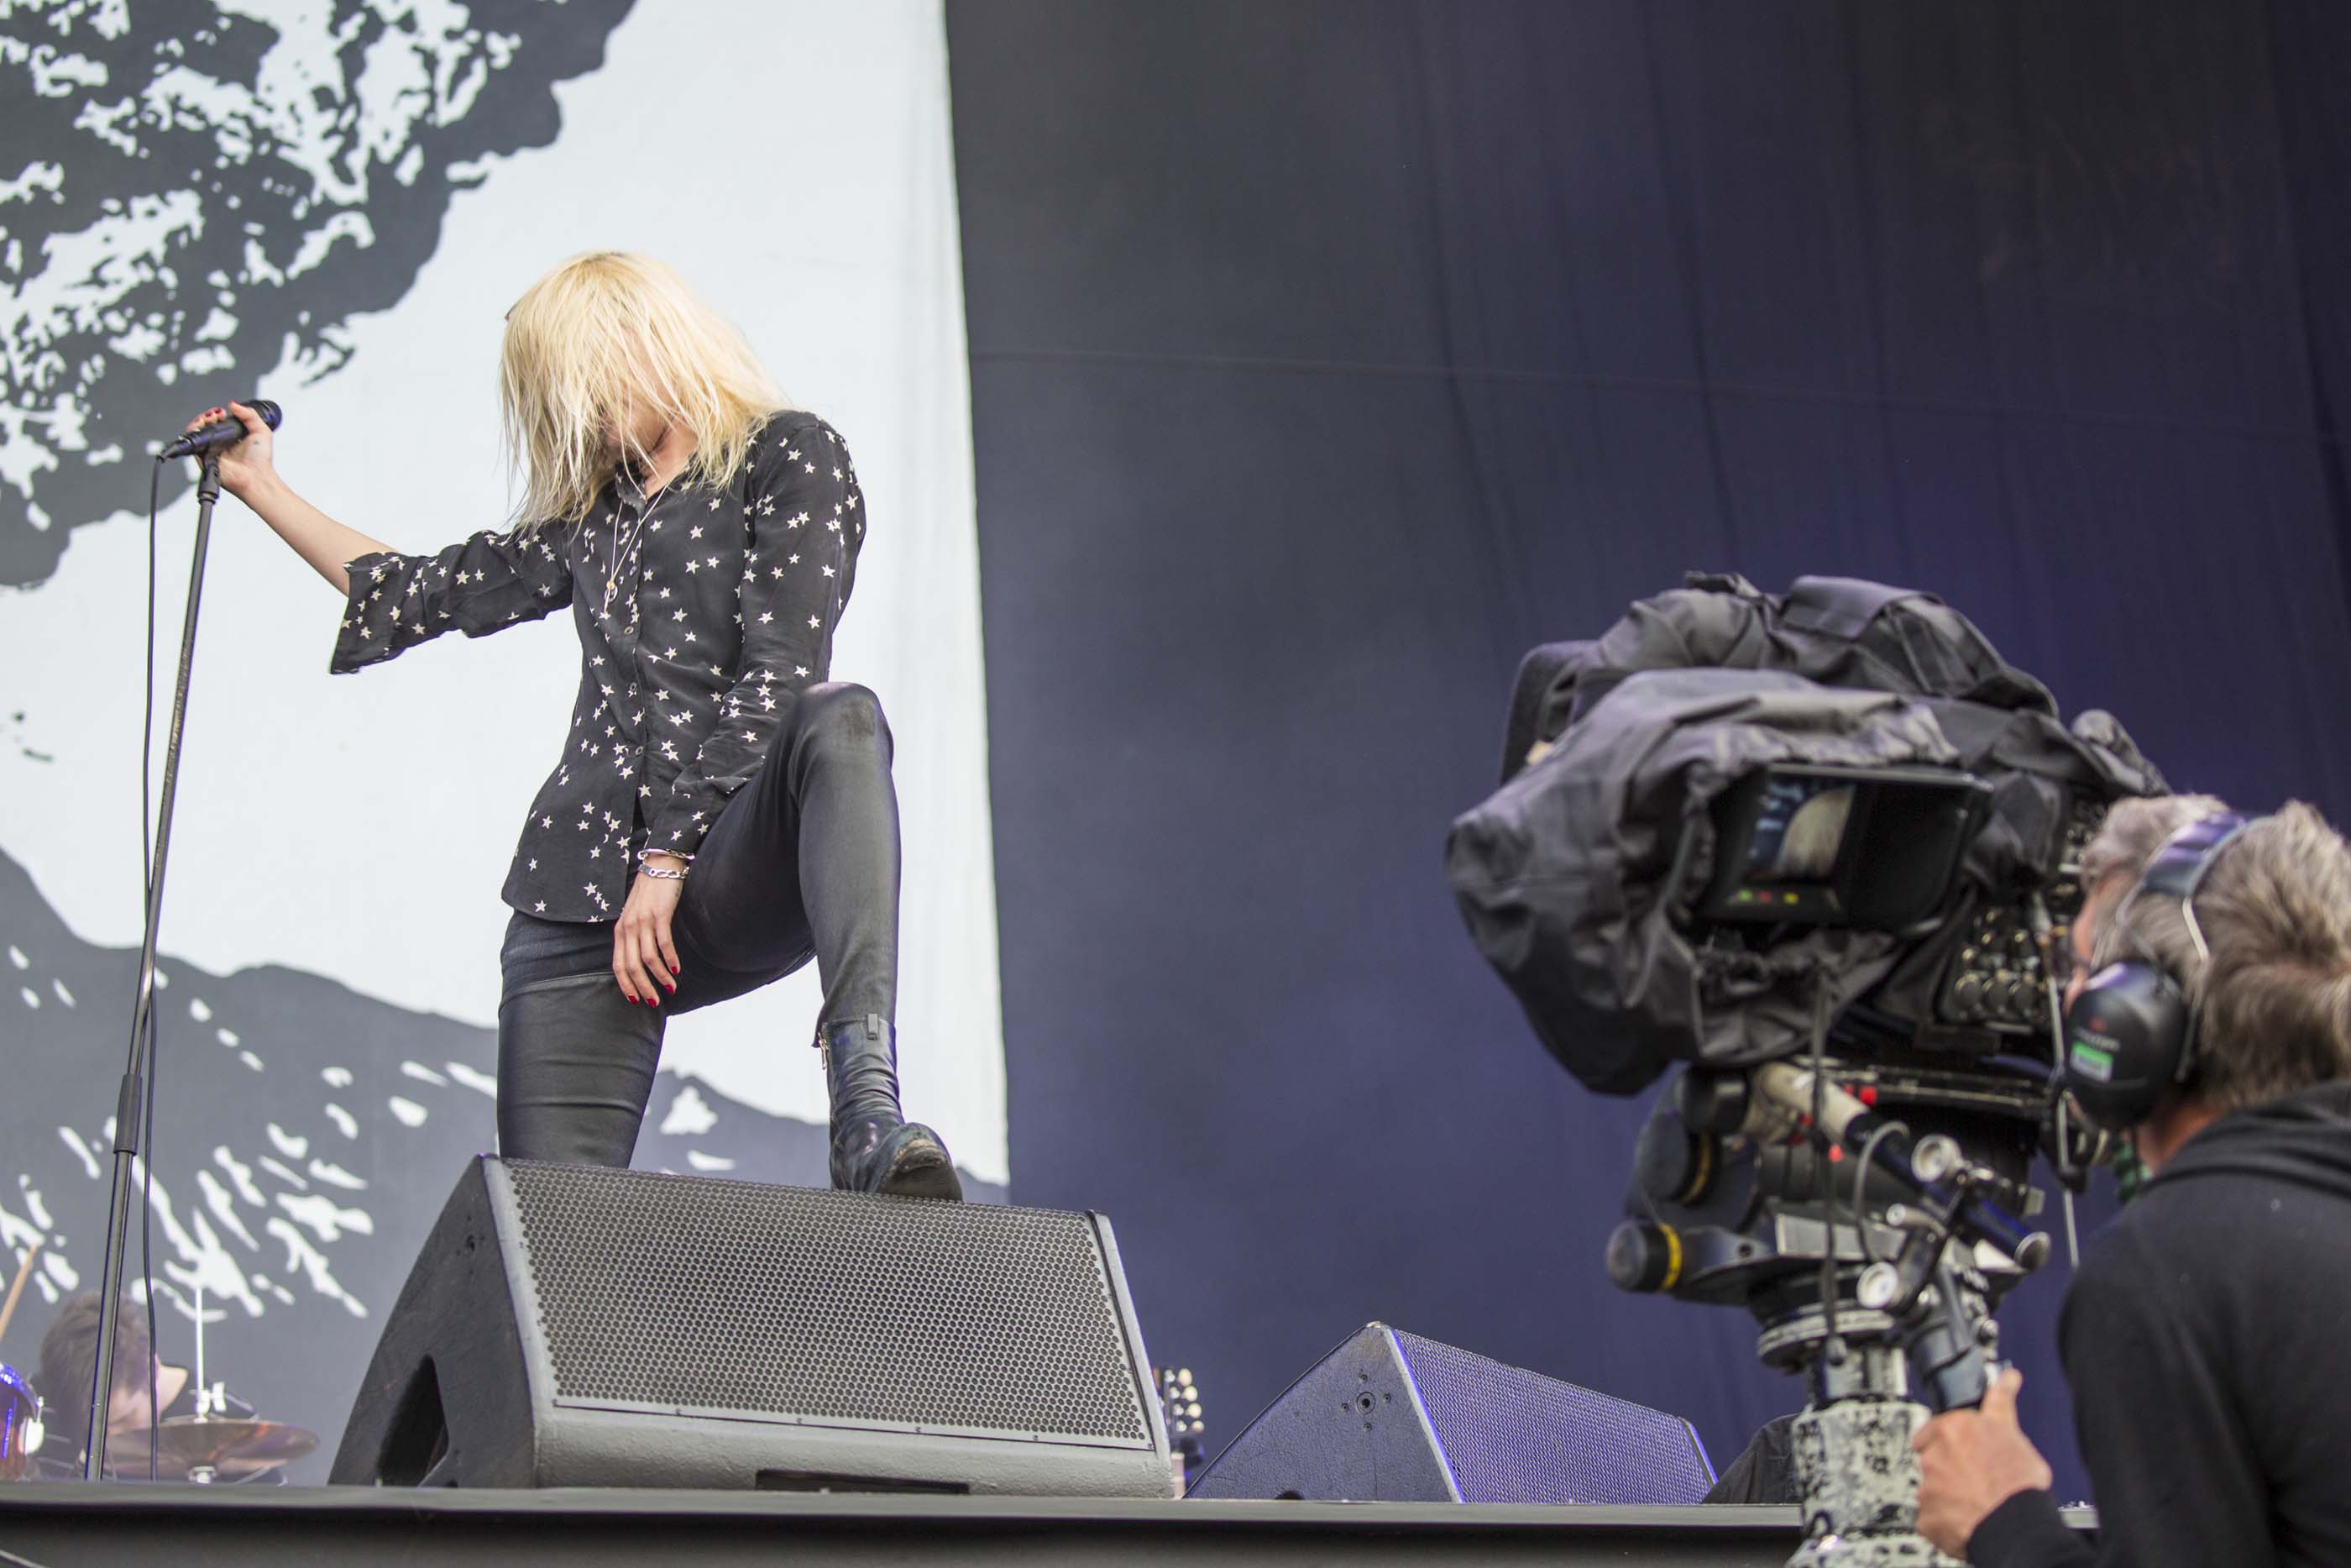
[[[1324,1356],[1215,1455],[1192,1497],[1697,1502],[1690,1422],[1387,1324]]]

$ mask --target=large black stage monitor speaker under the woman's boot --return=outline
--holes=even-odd
[[[1093,1213],[477,1159],[329,1474],[1166,1497]]]

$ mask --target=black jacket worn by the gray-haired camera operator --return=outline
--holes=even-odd
[[[2059,1345],[2099,1549],[2048,1493],[1977,1568],[2351,1563],[2351,1081],[2222,1117],[2106,1229]]]

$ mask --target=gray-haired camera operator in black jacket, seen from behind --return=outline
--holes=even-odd
[[[1918,1530],[1977,1568],[2351,1561],[2351,846],[2304,804],[2229,827],[2210,797],[2128,799],[2085,856],[2069,1039],[2137,964],[2182,1009],[2186,1077],[2125,1133],[2146,1182],[2064,1300],[2099,1552],[2057,1516],[2015,1373],[1914,1441]],[[2182,856],[2184,886],[2146,886]]]

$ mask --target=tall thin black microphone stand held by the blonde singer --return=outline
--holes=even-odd
[[[162,458],[155,458],[158,463]],[[179,792],[179,741],[188,722],[188,672],[195,665],[195,611],[205,595],[205,552],[212,545],[212,503],[221,498],[221,451],[202,454],[195,482],[195,562],[188,567],[188,621],[179,632],[179,684],[172,689],[172,729],[162,762],[162,811],[155,820],[155,877],[146,898],[146,940],[139,945],[139,1006],[132,1011],[132,1048],[115,1100],[115,1185],[106,1204],[106,1267],[99,1284],[99,1363],[89,1382],[89,1450],[82,1479],[106,1474],[106,1408],[115,1387],[115,1331],[122,1316],[122,1253],[129,1244],[132,1164],[146,1154],[148,1041],[155,1034],[155,926],[162,919],[162,867],[172,856],[172,799]],[[148,1347],[153,1356],[155,1349]],[[162,1410],[148,1410],[148,1429]]]

